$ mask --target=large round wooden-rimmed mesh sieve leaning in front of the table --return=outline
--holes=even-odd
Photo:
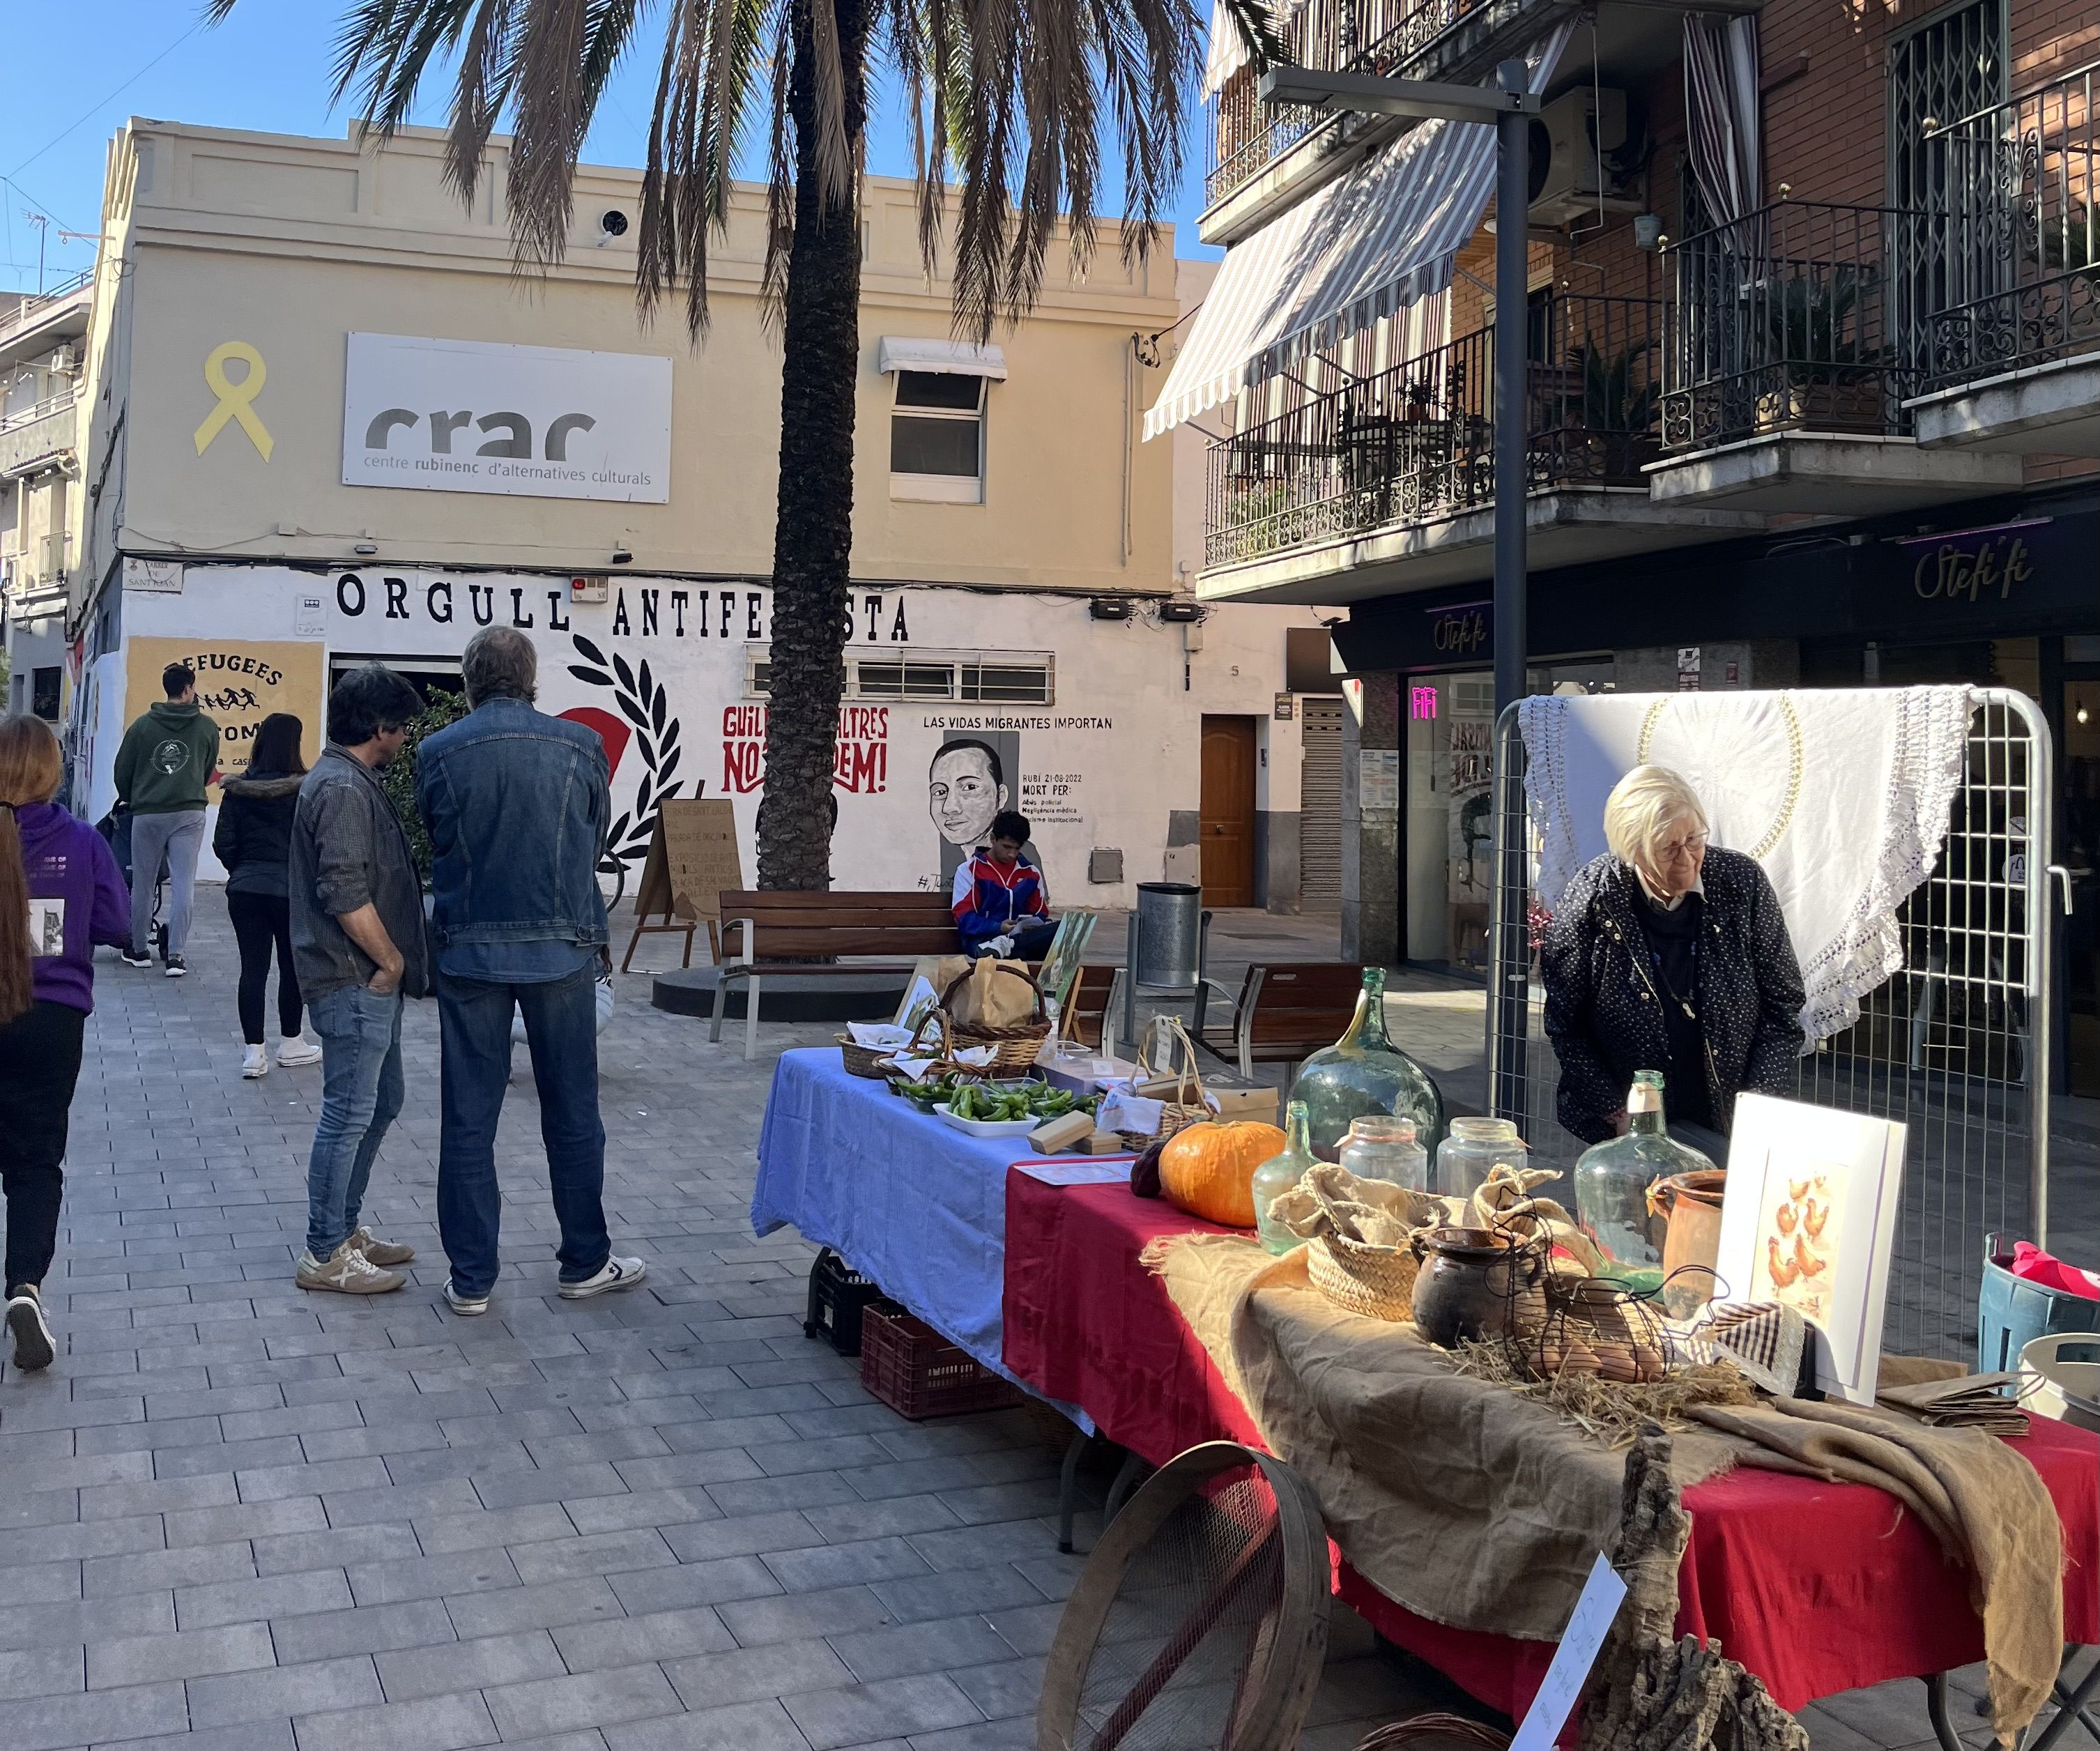
[[[1289,1751],[1327,1654],[1327,1528],[1233,1440],[1161,1465],[1109,1522],[1050,1646],[1037,1751]]]

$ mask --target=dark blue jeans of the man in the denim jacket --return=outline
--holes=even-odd
[[[563,978],[498,985],[437,978],[445,1043],[445,1117],[437,1153],[437,1232],[452,1260],[452,1287],[496,1287],[502,1188],[496,1184],[496,1119],[510,1081],[510,1012],[525,1016],[531,1079],[540,1090],[540,1140],[561,1224],[554,1253],[563,1283],[605,1268],[605,1125],[598,1123],[598,976],[588,962]]]

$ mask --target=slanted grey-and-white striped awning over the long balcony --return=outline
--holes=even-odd
[[[1531,90],[1552,80],[1567,38],[1562,23],[1531,46]],[[1424,122],[1235,244],[1144,416],[1144,437],[1443,292],[1493,191],[1495,130]]]

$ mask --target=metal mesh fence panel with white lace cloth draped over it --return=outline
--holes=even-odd
[[[1796,1098],[1909,1125],[1882,1337],[1892,1352],[1972,1360],[1984,1237],[2048,1239],[2052,800],[2041,708],[1976,689],[1947,840],[1903,909],[1905,966],[1863,999],[1858,1022],[1802,1058]],[[1514,708],[1497,726],[1495,827],[1489,1102],[1535,1165],[1569,1172],[1583,1144],[1554,1119]],[[1560,1190],[1573,1195],[1571,1180]]]

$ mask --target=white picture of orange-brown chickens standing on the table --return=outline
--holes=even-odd
[[[1793,1308],[1816,1386],[1873,1405],[1905,1127],[1865,1113],[1745,1094],[1728,1136],[1720,1272],[1728,1302]]]

